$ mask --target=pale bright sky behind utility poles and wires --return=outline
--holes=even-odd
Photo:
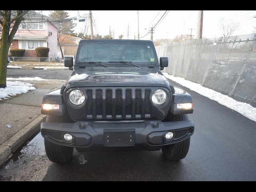
[[[70,17],[77,17],[78,19],[84,16],[88,16],[88,10],[68,10]],[[138,37],[138,21],[139,21],[139,33],[140,37],[146,35],[150,27],[155,26],[160,18],[164,15],[165,10],[114,10],[114,11],[98,11],[92,10],[92,16],[95,21],[93,28],[94,35],[100,34],[102,36],[109,34],[109,27],[111,32],[114,30],[114,38],[118,38],[120,34],[124,35],[123,39],[127,39],[128,24],[129,24],[129,39],[136,39]],[[43,11],[43,14],[48,16],[49,11]],[[192,35],[196,35],[196,25],[198,18],[197,10],[170,10],[166,12],[162,20],[156,25],[153,34],[153,40],[160,38],[172,39],[176,35],[190,34],[192,29]],[[79,16],[80,15],[80,16]],[[204,10],[203,15],[203,34],[205,38],[221,37],[221,31],[219,27],[219,20],[224,18],[224,22],[228,23],[229,20],[237,22],[239,24],[238,30],[234,35],[251,34],[253,33],[254,26],[256,27],[256,11],[253,10]],[[139,18],[139,20],[138,20]],[[74,21],[77,23],[75,32],[80,32],[80,28],[84,26],[83,22]],[[256,30],[256,29],[255,29]],[[88,30],[90,34],[90,28]],[[143,40],[150,39],[150,33],[143,38]]]

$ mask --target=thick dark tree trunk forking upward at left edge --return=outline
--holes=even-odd
[[[6,88],[8,50],[26,13],[28,10],[0,10],[0,88]]]

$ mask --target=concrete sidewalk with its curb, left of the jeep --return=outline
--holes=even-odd
[[[41,115],[42,97],[65,80],[21,82],[34,84],[36,90],[0,102],[0,166],[40,128],[46,118]]]

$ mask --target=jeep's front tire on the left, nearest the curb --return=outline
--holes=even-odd
[[[67,122],[64,116],[46,116],[46,122]],[[74,147],[62,146],[44,139],[44,148],[48,159],[55,163],[66,163],[72,158]]]

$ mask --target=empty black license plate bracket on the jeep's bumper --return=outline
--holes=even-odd
[[[104,145],[108,147],[124,147],[135,145],[134,131],[105,131]]]

